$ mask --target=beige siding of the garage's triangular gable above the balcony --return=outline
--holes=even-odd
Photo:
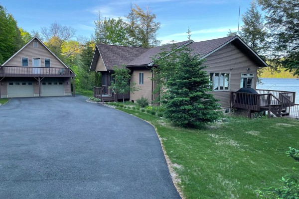
[[[28,66],[32,67],[32,58],[40,59],[40,67],[45,66],[45,59],[50,59],[51,67],[65,68],[65,66],[48,51],[39,41],[38,47],[33,47],[33,41],[31,41],[25,48],[23,48],[18,54],[10,59],[4,66],[22,66],[22,57],[28,58]]]

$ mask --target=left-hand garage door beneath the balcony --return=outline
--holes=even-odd
[[[34,97],[33,82],[7,82],[8,98]]]

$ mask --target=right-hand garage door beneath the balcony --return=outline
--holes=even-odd
[[[64,96],[64,82],[42,82],[41,96]]]

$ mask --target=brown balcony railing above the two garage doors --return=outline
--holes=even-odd
[[[69,68],[0,66],[0,77],[74,77]]]

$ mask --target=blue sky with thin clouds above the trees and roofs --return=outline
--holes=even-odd
[[[250,2],[241,0],[241,14]],[[156,14],[161,23],[157,38],[162,43],[187,40],[188,26],[194,41],[225,37],[229,29],[238,29],[239,0],[0,0],[18,26],[29,32],[57,21],[86,38],[94,32],[99,10],[107,18],[123,17],[129,13],[130,3],[144,9],[149,6]]]

